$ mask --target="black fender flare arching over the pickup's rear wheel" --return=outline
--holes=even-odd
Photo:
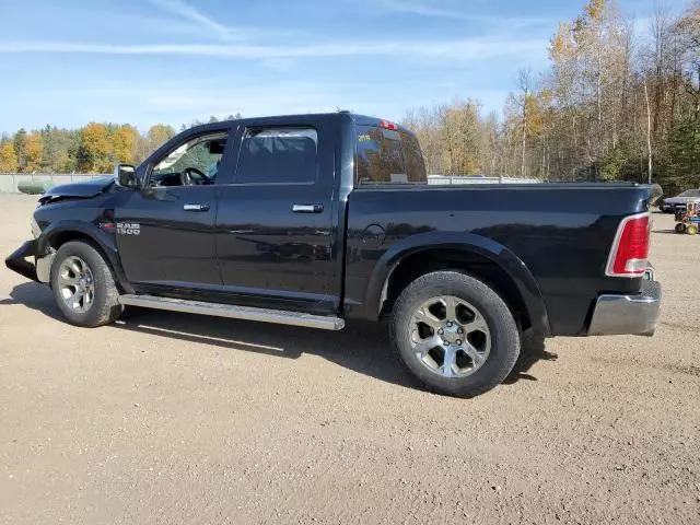
[[[368,284],[368,317],[376,319],[382,307],[382,294],[392,272],[407,257],[433,249],[462,250],[486,257],[505,271],[515,283],[533,327],[539,334],[551,335],[547,308],[539,287],[529,269],[512,250],[500,243],[474,233],[428,232],[411,235],[392,246],[380,258]]]

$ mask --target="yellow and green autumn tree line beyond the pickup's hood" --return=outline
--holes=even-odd
[[[242,118],[229,115],[228,120]],[[209,122],[218,121],[212,116]],[[205,124],[195,120],[189,126]],[[183,125],[180,130],[187,129]],[[112,173],[116,163],[138,164],[175,136],[163,124],[144,133],[128,124],[90,122],[80,129],[46,126],[0,139],[0,173]]]

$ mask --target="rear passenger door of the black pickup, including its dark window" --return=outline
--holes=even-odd
[[[220,188],[215,243],[223,283],[236,302],[337,307],[332,126],[310,116],[240,130],[233,183]]]

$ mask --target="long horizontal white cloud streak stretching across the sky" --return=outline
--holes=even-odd
[[[452,40],[389,40],[374,44],[338,43],[330,45],[255,46],[208,44],[113,45],[72,42],[0,43],[0,52],[55,52],[91,55],[173,55],[207,56],[241,60],[328,58],[349,56],[450,57],[483,59],[497,56],[536,54],[546,49],[542,39],[463,38]]]

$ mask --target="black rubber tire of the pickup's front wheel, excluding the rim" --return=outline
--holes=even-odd
[[[84,261],[92,273],[92,301],[84,312],[72,310],[62,295],[65,287],[60,281],[60,268],[72,257]],[[109,265],[96,248],[82,241],[71,241],[58,248],[51,265],[51,290],[66,319],[77,326],[93,328],[108,325],[117,320],[124,310]]]

